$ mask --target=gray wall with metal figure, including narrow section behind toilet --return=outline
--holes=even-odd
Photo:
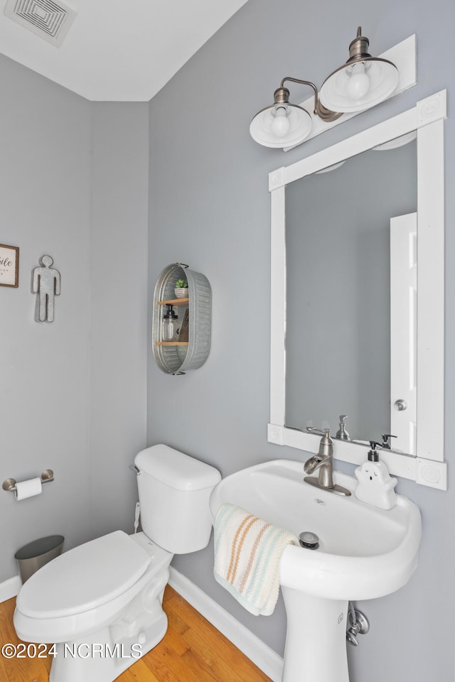
[[[0,485],[52,468],[16,502],[0,489],[0,583],[14,552],[132,529],[128,470],[146,442],[148,104],[90,104],[0,58],[0,243],[20,247],[0,287]],[[55,322],[34,321],[31,271],[62,277]]]

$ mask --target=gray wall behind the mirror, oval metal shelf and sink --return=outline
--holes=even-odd
[[[148,442],[164,442],[217,466],[223,475],[273,458],[304,460],[305,453],[267,443],[269,418],[269,193],[267,173],[308,156],[414,106],[443,88],[451,93],[454,58],[449,0],[428,5],[385,0],[348,5],[300,0],[250,0],[151,101],[149,293],[161,269],[183,261],[208,276],[213,287],[213,335],[205,365],[168,377],[149,355]],[[418,85],[370,112],[284,154],[257,146],[252,115],[272,101],[285,75],[319,85],[348,55],[358,24],[379,54],[417,34]],[[323,40],[321,41],[321,36]],[[445,46],[444,58],[437,45]],[[321,45],[323,49],[321,49]],[[309,91],[291,89],[299,102]],[[454,122],[446,122],[446,149],[454,148]],[[446,158],[447,187],[454,158]],[[455,256],[455,199],[446,199],[447,264]],[[455,277],[446,275],[448,313]],[[150,307],[150,306],[149,306]],[[454,316],[446,321],[446,415],[455,407]],[[186,413],[176,406],[186,404]],[[448,420],[449,421],[449,420]],[[358,606],[371,632],[351,649],[353,682],[454,678],[454,534],[449,492],[400,480],[398,492],[422,510],[423,541],[417,573],[399,592]],[[339,465],[350,470],[348,465]],[[253,617],[212,575],[213,551],[177,557],[174,565],[237,619],[283,652],[282,602],[274,615]],[[321,633],[321,636],[323,634]]]

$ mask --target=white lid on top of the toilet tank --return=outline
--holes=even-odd
[[[141,450],[134,464],[140,471],[176,490],[202,490],[213,487],[221,480],[220,472],[215,467],[162,443]]]

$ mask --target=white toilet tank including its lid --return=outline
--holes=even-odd
[[[220,472],[168,445],[141,450],[134,464],[146,536],[173,554],[206,547],[212,531],[208,498]]]

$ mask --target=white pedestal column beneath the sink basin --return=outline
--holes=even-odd
[[[348,602],[282,586],[287,612],[282,682],[349,682]]]

